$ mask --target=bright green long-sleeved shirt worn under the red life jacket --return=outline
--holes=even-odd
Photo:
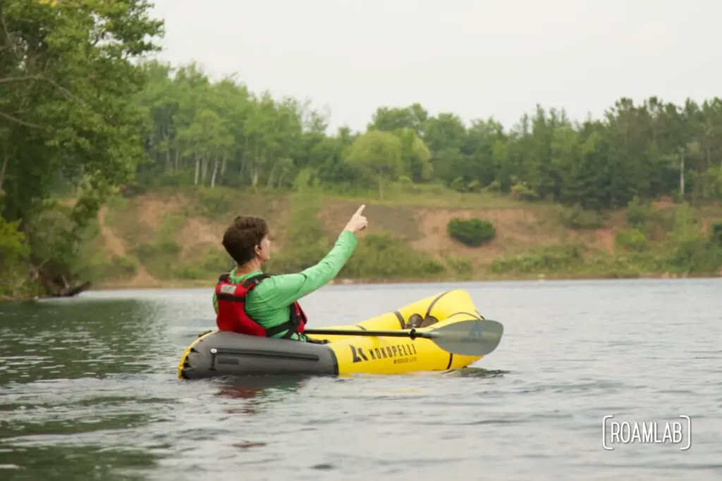
[[[274,275],[264,279],[248,293],[245,312],[266,329],[282,325],[290,317],[291,304],[321,288],[338,275],[353,254],[356,242],[356,236],[351,231],[344,230],[336,239],[334,247],[318,264],[300,273]],[[262,273],[261,270],[254,270],[248,274],[236,275],[233,269],[230,271],[229,281],[238,284]],[[218,300],[215,294],[213,294],[213,309],[218,313]],[[284,334],[285,331],[279,332],[274,337],[282,337]],[[305,336],[295,334],[292,339],[305,340]]]

